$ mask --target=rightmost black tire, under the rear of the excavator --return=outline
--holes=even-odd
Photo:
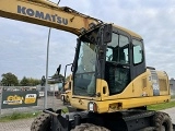
[[[155,131],[173,131],[172,119],[165,112],[156,112],[153,118]]]

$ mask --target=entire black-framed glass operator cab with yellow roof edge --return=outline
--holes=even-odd
[[[117,95],[145,71],[143,40],[118,26],[96,27],[78,39],[73,67],[73,95],[95,97],[97,79]]]

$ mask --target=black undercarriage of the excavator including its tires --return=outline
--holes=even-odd
[[[31,131],[175,131],[170,116],[154,110],[130,109],[112,114],[95,114],[70,108],[44,110],[32,123]]]

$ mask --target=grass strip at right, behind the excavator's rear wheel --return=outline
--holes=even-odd
[[[149,110],[162,110],[162,109],[167,109],[167,108],[172,108],[175,107],[175,100],[172,100],[170,103],[165,103],[165,104],[158,104],[158,105],[150,105],[148,106]]]

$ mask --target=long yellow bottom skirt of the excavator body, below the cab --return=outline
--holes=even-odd
[[[104,100],[95,102],[81,98],[72,98],[71,105],[80,109],[88,109],[90,102],[94,102],[97,105],[97,112],[113,112],[122,109],[141,107],[147,105],[167,103],[171,99],[171,95],[167,96],[152,96],[152,97],[140,97],[140,98],[126,98],[126,99],[115,99],[115,100]]]

